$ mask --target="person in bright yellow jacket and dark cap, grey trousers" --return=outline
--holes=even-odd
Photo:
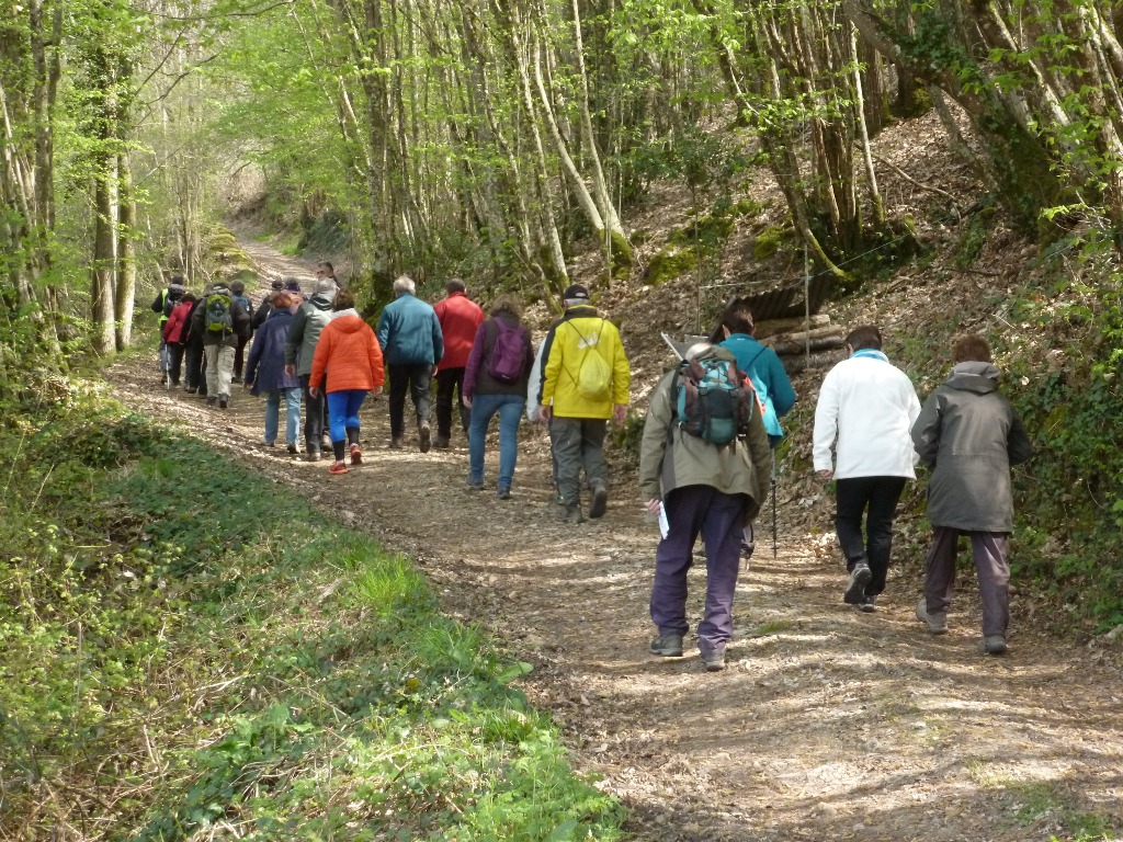
[[[609,419],[624,422],[631,368],[620,331],[597,314],[588,290],[573,284],[563,295],[565,315],[546,335],[539,403],[550,424],[557,459],[559,521],[581,523],[581,468],[593,494],[590,518],[609,504],[604,433]]]

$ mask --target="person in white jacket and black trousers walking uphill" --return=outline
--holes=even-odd
[[[850,574],[842,600],[871,612],[885,589],[897,501],[905,481],[916,477],[910,431],[920,399],[882,353],[877,327],[856,328],[846,345],[850,357],[819,390],[812,458],[824,482],[834,479],[834,527]]]

